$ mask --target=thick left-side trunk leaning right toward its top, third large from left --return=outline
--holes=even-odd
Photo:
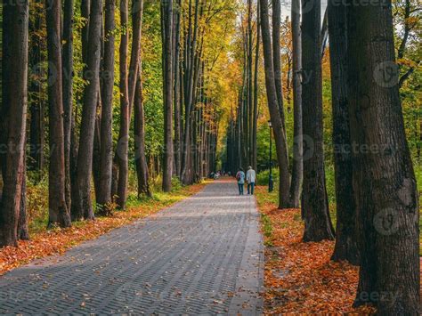
[[[90,80],[85,87],[84,106],[77,156],[77,214],[92,220],[91,175],[93,172],[93,134],[100,82],[102,1],[93,0],[89,19],[89,39],[86,72]]]

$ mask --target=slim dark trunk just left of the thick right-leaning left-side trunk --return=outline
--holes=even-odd
[[[63,9],[63,131],[65,162],[65,198],[68,210],[71,209],[70,150],[73,120],[73,15],[74,0],[65,0]]]

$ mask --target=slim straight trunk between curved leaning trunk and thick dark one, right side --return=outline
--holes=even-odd
[[[291,10],[292,49],[293,49],[293,166],[290,184],[290,207],[299,207],[300,191],[304,178],[303,142],[302,134],[302,40],[300,29],[300,0],[293,0]]]

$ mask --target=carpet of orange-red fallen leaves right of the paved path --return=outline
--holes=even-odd
[[[258,199],[266,194],[264,187],[257,190]],[[300,210],[279,210],[266,199],[258,205],[272,225],[265,234],[265,314],[375,312],[353,309],[359,268],[330,261],[334,241],[304,243]]]

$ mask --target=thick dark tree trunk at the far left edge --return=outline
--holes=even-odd
[[[17,246],[28,105],[28,1],[3,4],[0,247]]]

